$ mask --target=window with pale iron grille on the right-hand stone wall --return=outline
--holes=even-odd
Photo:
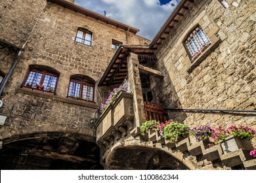
[[[211,41],[199,25],[194,28],[185,40],[186,50],[193,62],[211,44]]]

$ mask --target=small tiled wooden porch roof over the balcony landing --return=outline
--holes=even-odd
[[[110,84],[121,84],[123,82],[128,75],[126,58],[130,53],[138,54],[139,57],[152,57],[155,50],[156,48],[149,48],[148,46],[119,46],[98,86],[109,86]],[[144,60],[139,59],[139,61],[141,64],[146,63]]]

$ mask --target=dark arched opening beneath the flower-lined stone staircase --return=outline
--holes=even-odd
[[[138,144],[117,143],[104,160],[105,169],[195,169],[191,162],[180,160],[175,154]]]

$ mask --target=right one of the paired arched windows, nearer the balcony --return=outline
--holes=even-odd
[[[88,76],[72,76],[68,89],[68,97],[94,101],[95,82]]]

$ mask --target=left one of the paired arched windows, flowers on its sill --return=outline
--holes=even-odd
[[[30,67],[22,86],[55,93],[59,74],[49,67]]]

